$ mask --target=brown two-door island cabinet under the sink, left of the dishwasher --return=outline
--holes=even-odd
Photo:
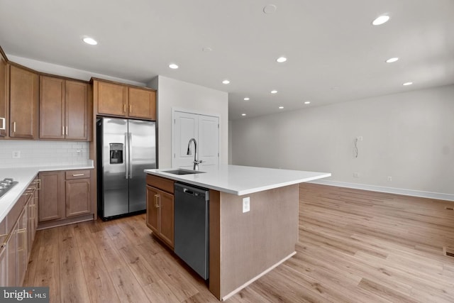
[[[167,246],[174,248],[173,181],[147,176],[147,226]]]

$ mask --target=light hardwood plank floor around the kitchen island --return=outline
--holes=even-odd
[[[227,302],[454,302],[453,204],[300,184],[297,255]],[[38,231],[24,285],[50,302],[218,302],[145,215]]]

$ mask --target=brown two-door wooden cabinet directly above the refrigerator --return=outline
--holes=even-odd
[[[156,120],[154,89],[94,79],[93,91],[98,114]]]

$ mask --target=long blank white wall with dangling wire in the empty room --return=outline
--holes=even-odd
[[[236,165],[331,172],[334,184],[454,197],[454,85],[240,119],[231,132]]]

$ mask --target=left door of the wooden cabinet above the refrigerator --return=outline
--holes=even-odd
[[[110,82],[94,82],[98,113],[126,116],[128,106],[128,87]]]

